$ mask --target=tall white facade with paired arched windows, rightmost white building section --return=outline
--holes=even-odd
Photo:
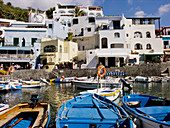
[[[127,48],[131,49],[132,54],[139,54],[140,62],[155,62],[163,55],[162,39],[155,33],[155,22],[160,24],[159,17],[123,17],[122,20]]]

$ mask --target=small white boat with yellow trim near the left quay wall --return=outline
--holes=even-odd
[[[22,88],[41,88],[41,86],[42,86],[42,83],[40,81],[34,81],[34,80],[23,81],[23,80],[20,80],[20,82],[22,83]]]

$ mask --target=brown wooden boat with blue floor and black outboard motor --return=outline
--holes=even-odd
[[[50,105],[38,102],[32,95],[32,103],[19,103],[0,115],[1,128],[47,128],[50,121]]]

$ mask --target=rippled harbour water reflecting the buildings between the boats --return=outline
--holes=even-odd
[[[126,94],[146,94],[170,99],[170,82],[163,83],[131,83],[133,89],[125,92]],[[72,99],[74,95],[79,95],[83,90],[79,90],[71,83],[45,85],[40,89],[22,89],[20,91],[10,91],[8,93],[0,93],[10,107],[19,102],[30,102],[32,94],[39,95],[40,102],[48,102],[51,105],[50,128],[55,128],[55,115],[59,106],[66,101]],[[121,97],[123,94],[121,95]],[[121,105],[121,97],[119,105]]]

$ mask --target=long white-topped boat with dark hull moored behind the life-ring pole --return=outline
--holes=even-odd
[[[103,84],[105,87],[112,87],[114,85],[118,86],[121,84],[120,78],[113,77],[107,77],[106,79],[99,80],[98,78],[90,77],[84,80],[73,80],[72,83],[75,84],[77,88],[81,89],[96,89],[98,83]]]

